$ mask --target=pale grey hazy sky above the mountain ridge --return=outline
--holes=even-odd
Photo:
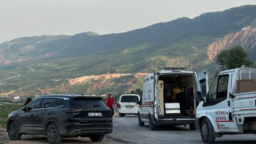
[[[0,44],[15,38],[112,34],[256,0],[0,0]]]

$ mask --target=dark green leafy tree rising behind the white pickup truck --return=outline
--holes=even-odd
[[[221,65],[222,70],[240,68],[242,65],[250,67],[254,64],[250,60],[248,52],[242,46],[234,46],[229,50],[222,50],[217,55],[217,63]]]

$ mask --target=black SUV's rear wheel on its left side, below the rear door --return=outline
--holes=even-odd
[[[62,136],[60,136],[58,126],[54,122],[49,124],[46,131],[46,137],[48,142],[51,144],[57,144],[61,142]]]

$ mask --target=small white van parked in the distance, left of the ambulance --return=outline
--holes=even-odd
[[[139,105],[134,104],[135,98],[140,100],[140,96],[138,94],[122,94],[120,96],[118,104],[119,117],[122,117],[126,114],[138,115]]]

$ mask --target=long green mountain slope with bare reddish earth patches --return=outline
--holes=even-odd
[[[0,44],[2,95],[96,94],[141,88],[165,66],[215,73],[216,55],[241,45],[256,62],[256,5],[178,18],[119,34],[33,36]]]

